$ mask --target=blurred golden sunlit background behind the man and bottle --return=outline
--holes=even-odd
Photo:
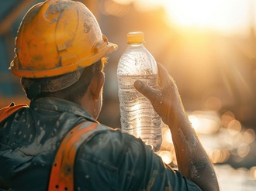
[[[0,0],[0,107],[29,101],[8,70],[27,10],[40,0]],[[142,31],[147,49],[168,68],[189,120],[214,163],[221,190],[256,189],[256,1],[84,0],[119,49],[109,55],[99,121],[120,127],[116,67],[126,34]],[[163,124],[164,162],[176,168]]]

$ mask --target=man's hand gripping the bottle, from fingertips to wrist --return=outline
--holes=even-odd
[[[175,81],[168,74],[168,71],[161,63],[157,63],[157,66],[159,89],[149,87],[140,80],[134,83],[134,87],[150,100],[154,110],[161,116],[164,123],[170,124],[170,120],[175,117],[175,112],[183,112],[182,101]]]

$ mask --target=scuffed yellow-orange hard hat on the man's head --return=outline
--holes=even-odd
[[[116,49],[84,4],[49,0],[22,19],[10,69],[19,77],[55,77],[88,67]]]

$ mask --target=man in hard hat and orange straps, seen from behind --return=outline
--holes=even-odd
[[[0,111],[1,190],[219,190],[161,64],[159,89],[134,86],[168,124],[179,171],[140,139],[96,121],[106,56],[116,48],[81,2],[49,0],[29,9],[10,70],[21,77],[30,104]]]

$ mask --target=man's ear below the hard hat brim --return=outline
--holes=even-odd
[[[105,83],[105,74],[102,72],[95,73],[89,85],[93,99],[95,100],[99,99],[99,95],[101,94],[101,90],[104,83]]]

